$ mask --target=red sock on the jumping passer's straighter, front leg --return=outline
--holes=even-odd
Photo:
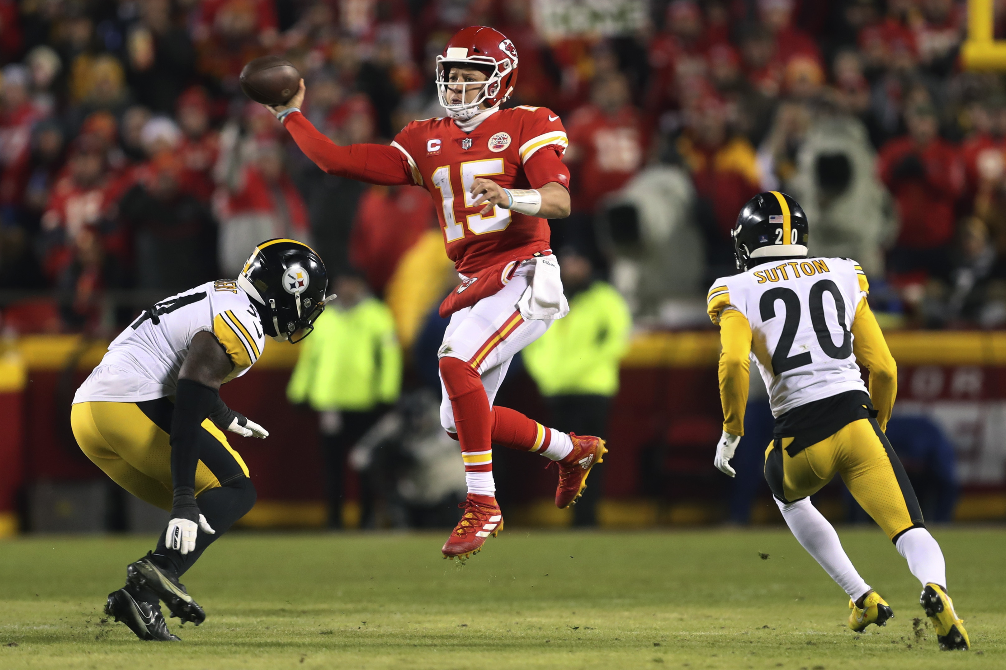
[[[441,377],[454,409],[465,472],[493,471],[492,413],[482,378],[471,365],[453,356],[440,360]]]

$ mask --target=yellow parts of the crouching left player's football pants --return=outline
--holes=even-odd
[[[141,500],[171,509],[170,436],[135,402],[78,402],[70,410],[70,426],[80,451],[116,484]],[[246,477],[247,466],[223,433],[208,418],[202,428],[234,457]],[[196,495],[219,485],[200,461],[195,472]]]

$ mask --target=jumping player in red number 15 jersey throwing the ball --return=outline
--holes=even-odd
[[[558,463],[555,504],[568,507],[607,453],[604,441],[559,433],[493,400],[510,360],[565,316],[546,218],[569,215],[567,144],[557,115],[543,107],[501,110],[517,80],[517,49],[485,26],[463,28],[437,56],[437,90],[447,116],[408,124],[391,146],[339,147],[300,113],[305,87],[270,110],[298,146],[330,174],[430,191],[447,254],[462,283],[441,305],[451,322],[441,346],[441,423],[461,443],[468,480],[465,513],[444,544],[466,558],[503,528],[492,475],[492,445]]]

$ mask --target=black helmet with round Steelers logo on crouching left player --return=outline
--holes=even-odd
[[[279,342],[307,337],[325,303],[335,298],[326,296],[321,257],[296,239],[267,239],[256,246],[237,286],[255,301],[265,333]]]

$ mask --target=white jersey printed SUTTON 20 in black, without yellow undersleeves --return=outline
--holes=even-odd
[[[869,284],[849,259],[770,261],[716,280],[714,323],[737,310],[751,329],[751,359],[769,389],[772,412],[849,390],[866,391],[852,353],[852,322]]]

